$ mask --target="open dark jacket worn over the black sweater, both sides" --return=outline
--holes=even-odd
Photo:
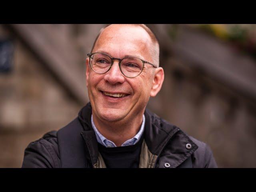
[[[48,132],[25,150],[22,168],[104,167],[91,124],[88,103],[78,117],[58,131]],[[212,151],[204,142],[145,110],[145,129],[140,167],[216,168]]]

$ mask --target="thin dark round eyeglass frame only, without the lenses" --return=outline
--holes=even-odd
[[[88,54],[87,54],[87,56],[89,57],[89,64],[90,64],[90,67],[91,67],[91,68],[92,68],[91,57],[92,57],[92,55],[94,55],[94,54],[96,54],[96,53],[100,53],[100,52],[94,52],[94,53],[88,53]],[[114,60],[118,60],[118,61],[119,61],[118,66],[119,66],[120,71],[122,72],[122,69],[121,69],[121,62],[122,62],[122,60],[124,60],[125,58],[137,58],[137,59],[141,60],[142,63],[143,63],[142,70],[140,71],[140,73],[139,73],[138,75],[136,75],[136,76],[134,76],[134,77],[137,77],[137,76],[139,76],[139,75],[141,74],[141,72],[142,72],[143,69],[144,69],[144,64],[145,64],[145,63],[152,65],[154,68],[157,68],[154,64],[152,64],[152,63],[150,63],[150,62],[147,62],[147,61],[145,61],[145,60],[142,60],[142,59],[140,59],[140,58],[138,58],[138,57],[132,57],[132,56],[130,56],[130,57],[125,57],[125,58],[120,59],[120,58],[110,57],[110,56],[109,56],[108,54],[106,54],[106,53],[100,53],[100,54],[104,54],[104,55],[108,56],[108,57],[111,59],[110,67],[109,67],[109,69],[108,69],[106,72],[108,72],[108,71],[111,69],[112,65],[114,64]],[[94,71],[93,68],[92,68],[92,70]],[[94,71],[94,72],[96,72],[96,71]],[[106,73],[106,72],[104,72],[104,73]],[[96,73],[98,73],[98,74],[104,74],[104,73],[99,73],[99,72],[96,72]],[[123,74],[124,76],[126,76],[123,72],[122,72],[122,74]],[[126,77],[128,77],[128,76],[126,76]],[[128,78],[134,78],[134,77],[128,77]]]

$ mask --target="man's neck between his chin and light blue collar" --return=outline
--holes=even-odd
[[[128,120],[108,122],[93,115],[93,122],[98,131],[116,146],[121,146],[125,141],[133,138],[140,130],[143,113]]]

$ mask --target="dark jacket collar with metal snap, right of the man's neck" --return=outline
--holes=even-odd
[[[155,167],[182,167],[183,163],[198,149],[198,146],[180,128],[146,109],[145,140],[152,154],[158,156]],[[191,148],[187,148],[187,144]],[[187,161],[186,161],[187,162]]]

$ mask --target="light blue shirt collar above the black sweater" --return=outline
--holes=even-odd
[[[92,121],[92,128],[94,129],[94,132],[96,134],[97,141],[105,147],[116,147],[116,145],[112,141],[108,140],[106,137],[104,137],[102,134],[100,134],[100,132],[98,131],[98,129],[96,128],[96,126],[93,122],[92,117],[91,117],[91,121]],[[133,138],[124,142],[121,146],[128,146],[128,145],[136,144],[142,136],[142,133],[144,131],[144,126],[145,126],[145,116],[143,114],[142,124],[140,126],[139,132]]]

